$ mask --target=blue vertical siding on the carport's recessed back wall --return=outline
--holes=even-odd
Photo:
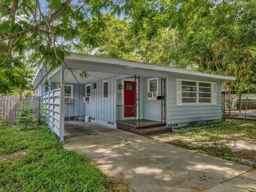
[[[52,88],[57,89],[56,82],[52,82]],[[73,103],[65,103],[65,117],[82,117],[85,116],[85,105],[83,97],[85,96],[85,84],[72,84],[73,85]]]

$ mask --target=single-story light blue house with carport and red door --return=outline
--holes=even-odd
[[[32,82],[34,94],[48,108],[47,123],[60,142],[64,120],[88,120],[142,134],[139,129],[174,128],[222,118],[220,76],[88,54],[72,53],[65,65],[41,66]],[[80,78],[80,72],[88,78]],[[78,84],[78,82],[79,84]]]

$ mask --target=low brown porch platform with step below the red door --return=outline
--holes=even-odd
[[[145,119],[116,121],[116,128],[137,135],[147,135],[172,131],[171,127],[166,127],[166,122],[158,122]]]

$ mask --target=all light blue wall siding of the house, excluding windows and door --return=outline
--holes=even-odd
[[[91,85],[91,102],[82,102],[82,97],[86,96],[85,84],[73,84],[73,104],[65,104],[65,117],[90,116],[92,121],[116,127],[116,104],[122,104],[118,99],[118,83],[121,79],[134,78],[129,75],[117,75],[106,78],[108,80],[108,99],[103,99],[103,80],[96,81],[96,89]],[[150,77],[152,78],[152,77]],[[206,82],[217,82],[217,105],[196,104],[196,105],[176,105],[176,79],[198,80]],[[168,74],[166,79],[166,122],[174,126],[185,126],[190,122],[205,122],[208,120],[220,121],[221,114],[221,80],[212,78]],[[57,88],[57,83],[52,82],[52,89]],[[124,88],[124,87],[123,87]],[[140,77],[140,119],[162,120],[161,100],[149,100],[148,77]],[[158,78],[158,96],[161,95],[161,78]],[[176,125],[177,124],[177,125]]]

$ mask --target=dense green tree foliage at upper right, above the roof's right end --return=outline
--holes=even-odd
[[[132,30],[147,40],[159,38],[159,30],[175,31],[172,62],[200,71],[236,76],[227,82],[238,95],[255,91],[255,0],[156,0],[137,2],[131,13]],[[156,41],[155,41],[156,42]],[[159,42],[159,41],[158,41]],[[166,46],[166,44],[164,44]],[[164,54],[166,60],[168,54]],[[168,62],[171,62],[168,61]],[[182,65],[178,65],[182,66]]]

